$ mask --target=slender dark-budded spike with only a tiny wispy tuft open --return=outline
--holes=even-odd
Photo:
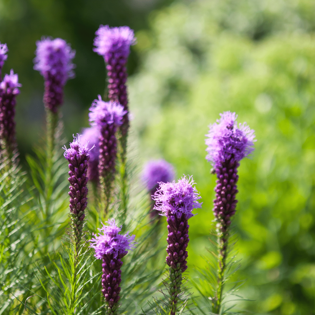
[[[89,162],[89,149],[83,145],[76,137],[70,143],[70,149],[65,148],[64,156],[69,162],[69,187],[70,192],[70,212],[71,212],[71,225],[73,232],[73,241],[75,244],[76,255],[80,250],[80,242],[82,239],[82,229],[84,226],[84,210],[87,206],[88,194],[88,162]]]

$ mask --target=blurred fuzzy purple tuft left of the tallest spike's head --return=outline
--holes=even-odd
[[[72,59],[76,52],[61,38],[43,38],[36,42],[36,57],[34,69],[38,70],[45,80],[48,75],[57,77],[61,85],[65,85],[69,78],[74,77]]]

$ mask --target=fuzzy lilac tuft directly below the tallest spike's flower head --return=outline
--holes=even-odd
[[[94,100],[90,107],[89,121],[92,126],[96,125],[99,128],[110,124],[118,127],[122,124],[122,118],[126,112],[119,103],[104,102],[99,95],[98,100]]]

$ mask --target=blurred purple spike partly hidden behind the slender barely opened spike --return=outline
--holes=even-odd
[[[90,181],[98,182],[98,164],[99,164],[99,138],[100,129],[97,126],[85,128],[83,134],[80,136],[80,143],[86,144],[89,149],[89,162],[88,162],[88,177]]]

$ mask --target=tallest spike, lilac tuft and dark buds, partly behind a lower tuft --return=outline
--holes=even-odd
[[[109,27],[108,25],[101,25],[95,35],[95,48],[93,50],[103,56],[107,63],[108,98],[120,103],[126,111],[121,126],[122,146],[125,151],[129,128],[126,63],[130,53],[130,45],[135,44],[134,31],[128,26]]]

